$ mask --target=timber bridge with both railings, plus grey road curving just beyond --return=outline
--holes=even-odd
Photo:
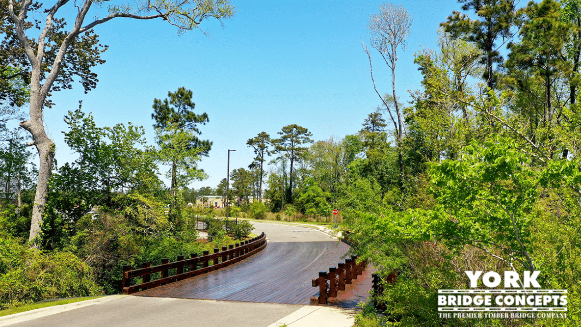
[[[355,257],[343,259],[347,244],[307,226],[254,222],[257,232],[263,233],[201,257],[192,254],[156,266],[146,262],[134,270],[126,266],[123,293],[341,307],[367,298],[371,271],[357,265]]]

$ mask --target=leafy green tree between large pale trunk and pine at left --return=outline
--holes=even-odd
[[[76,232],[75,224],[96,205],[129,207],[119,194],[162,196],[162,183],[152,149],[141,126],[98,127],[93,116],[77,109],[64,121],[64,141],[78,158],[56,169],[51,177],[50,207],[43,223],[45,248],[59,248]],[[136,196],[137,197],[137,196]]]

